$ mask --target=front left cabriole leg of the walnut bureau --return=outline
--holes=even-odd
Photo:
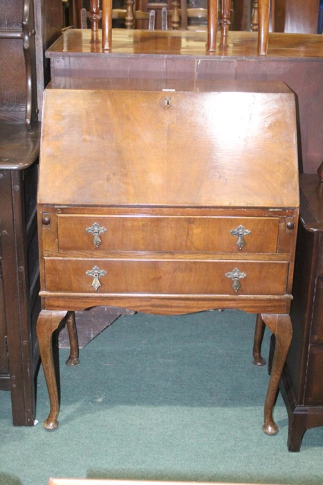
[[[37,320],[39,353],[50,400],[50,413],[48,414],[46,421],[44,421],[46,430],[55,430],[55,427],[58,425],[57,416],[59,413],[59,398],[53,360],[52,337],[53,332],[66,317],[70,317],[70,313],[67,311],[41,310]]]

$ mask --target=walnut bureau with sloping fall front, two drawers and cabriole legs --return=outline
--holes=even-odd
[[[104,305],[260,313],[277,340],[264,407],[264,431],[277,432],[299,207],[295,98],[284,83],[52,85],[37,204],[47,429],[59,413],[52,334],[67,321],[75,344],[73,312]]]

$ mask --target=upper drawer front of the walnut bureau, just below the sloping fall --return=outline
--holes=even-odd
[[[60,251],[275,253],[278,222],[278,218],[261,217],[57,215],[58,248]]]

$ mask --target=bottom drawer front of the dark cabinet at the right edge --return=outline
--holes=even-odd
[[[323,345],[310,345],[304,405],[323,406]]]

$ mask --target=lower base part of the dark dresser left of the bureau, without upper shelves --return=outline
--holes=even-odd
[[[39,136],[22,126],[17,143],[26,149],[24,156],[21,150],[17,164],[13,155],[6,166],[0,164],[0,389],[11,391],[13,423],[33,425],[39,360],[35,333],[40,307],[36,218]],[[32,148],[29,153],[28,144]],[[2,144],[1,152],[4,148]]]

